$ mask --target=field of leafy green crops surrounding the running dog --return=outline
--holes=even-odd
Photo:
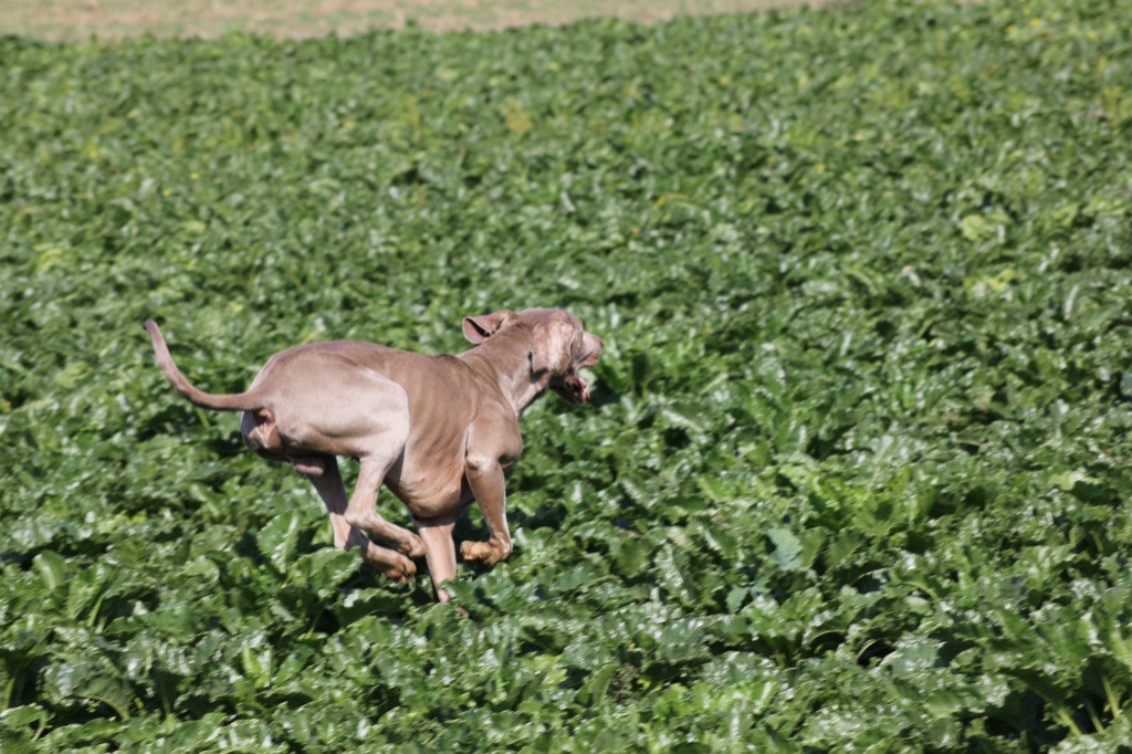
[[[1129,18],[0,40],[0,748],[1126,744]],[[533,306],[606,352],[468,618],[140,326],[234,392]]]

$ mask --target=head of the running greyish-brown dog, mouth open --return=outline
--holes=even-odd
[[[482,343],[488,337],[513,333],[528,342],[531,382],[549,387],[571,403],[590,400],[590,385],[577,370],[592,367],[603,343],[585,332],[582,320],[563,309],[525,309],[464,318],[464,337]]]

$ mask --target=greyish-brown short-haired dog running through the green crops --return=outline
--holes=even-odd
[[[272,357],[247,392],[216,395],[185,378],[154,320],[145,328],[181,395],[204,409],[242,411],[248,447],[314,483],[335,547],[358,548],[398,581],[415,574],[412,558],[423,556],[441,602],[451,596],[440,584],[456,575],[452,530],[473,500],[490,538],[463,542],[464,560],[494,566],[511,555],[504,472],[523,452],[523,411],[548,389],[588,402],[578,369],[597,365],[604,345],[568,311],[501,310],[464,318],[473,345],[458,355],[359,341],[297,345]],[[349,498],[336,456],[360,464]],[[377,512],[383,482],[409,508],[418,533]]]

